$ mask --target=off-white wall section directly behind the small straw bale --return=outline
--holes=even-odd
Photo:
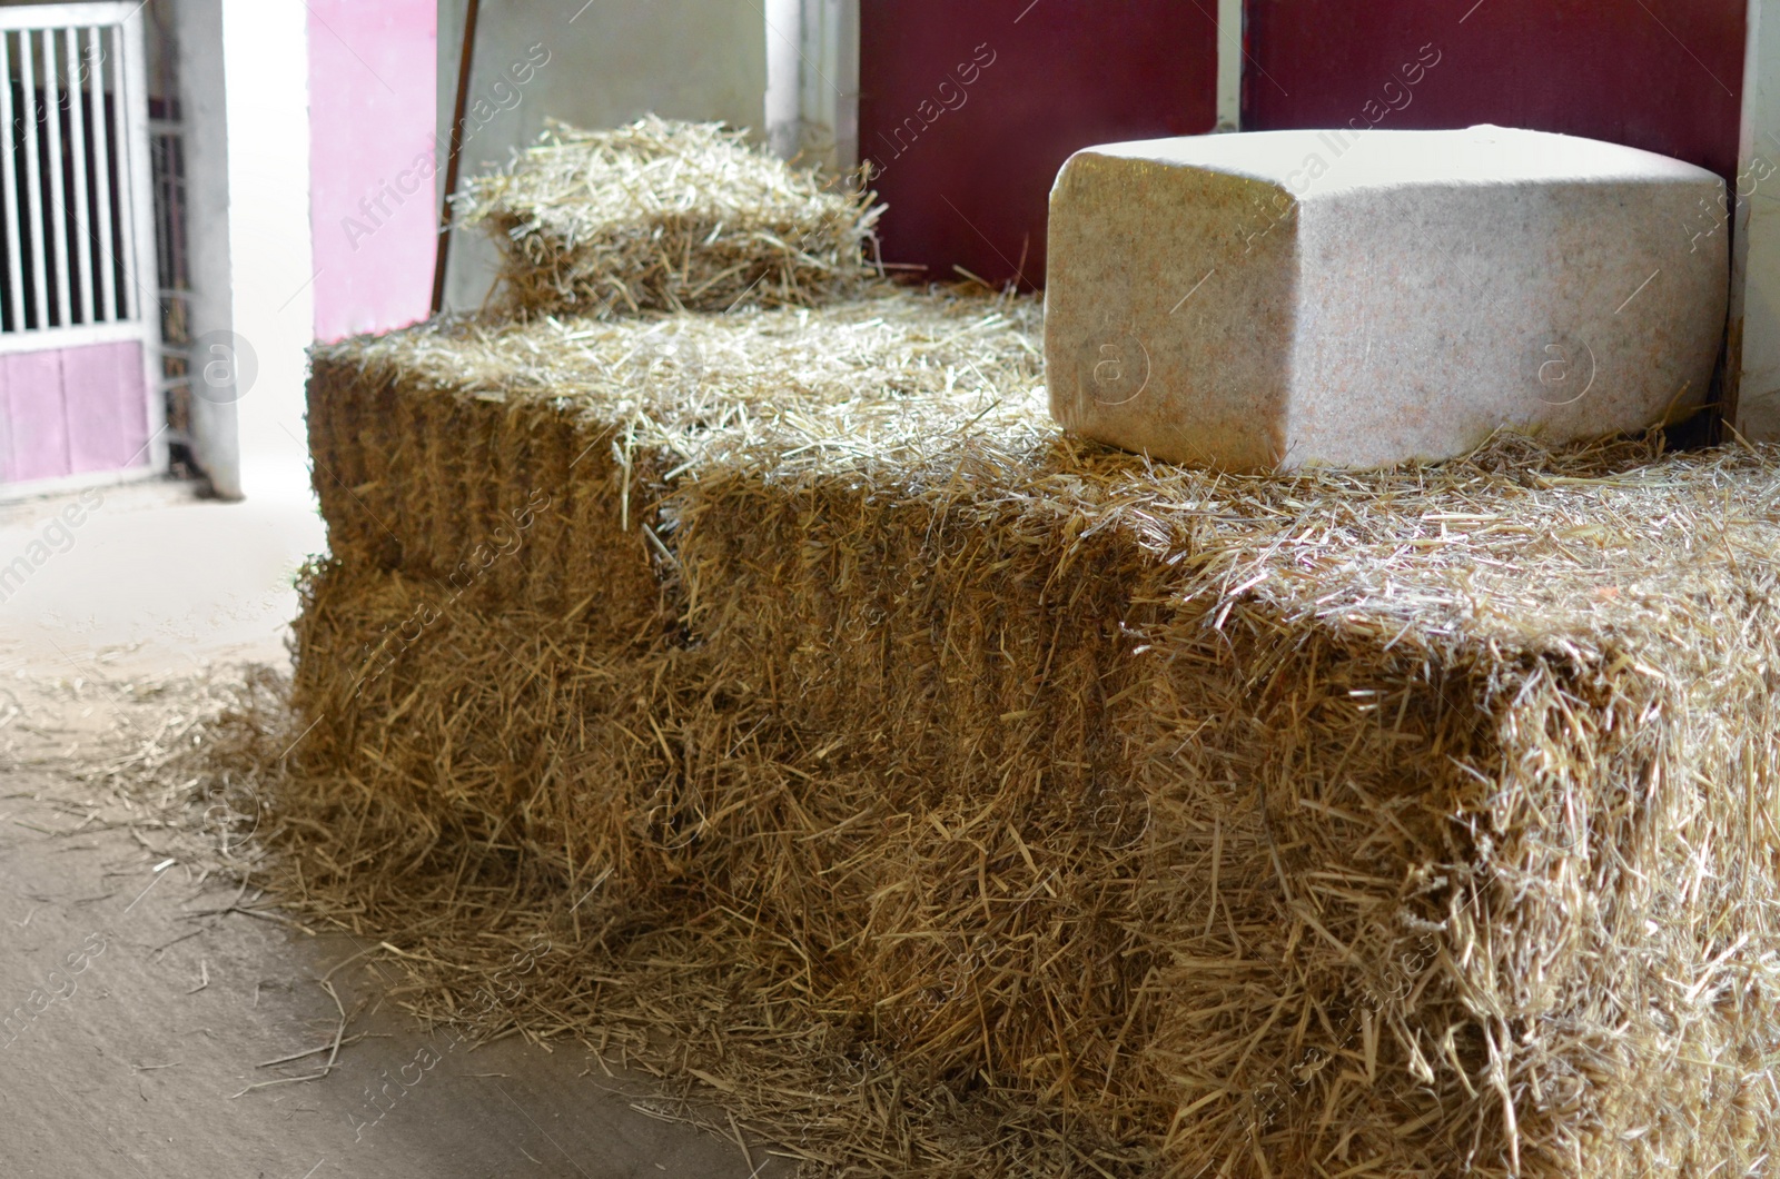
[[[440,0],[441,132],[450,126],[465,7]],[[506,69],[543,52],[550,61],[530,84],[497,93]],[[545,116],[619,126],[655,112],[758,134],[765,85],[765,21],[749,0],[484,0],[470,102],[484,100],[490,119],[477,128],[472,118],[463,175],[507,164],[538,137]],[[493,244],[479,230],[457,233],[447,306],[481,306],[493,276]]]

